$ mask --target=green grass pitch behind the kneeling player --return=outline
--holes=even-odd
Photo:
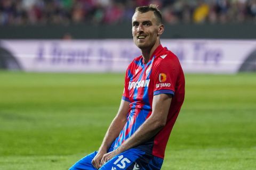
[[[97,150],[124,74],[0,72],[0,169],[68,169]],[[256,169],[256,74],[186,75],[164,170]]]

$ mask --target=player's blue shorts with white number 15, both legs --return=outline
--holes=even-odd
[[[69,170],[97,170],[92,165],[92,159],[97,155],[97,151],[90,155],[85,156],[77,163],[75,163]],[[147,154],[140,149],[129,149],[123,153],[113,157],[106,164],[104,164],[100,170],[123,170],[123,169],[145,169],[145,170],[157,170],[161,169],[163,159]]]

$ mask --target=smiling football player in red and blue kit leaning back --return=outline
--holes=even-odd
[[[142,55],[127,68],[119,111],[96,151],[73,169],[161,169],[164,151],[185,95],[178,58],[160,43],[156,5],[137,7],[132,35]]]

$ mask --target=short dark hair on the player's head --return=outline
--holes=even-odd
[[[135,8],[135,12],[145,13],[145,12],[148,12],[148,11],[153,11],[154,12],[154,14],[156,16],[156,19],[157,19],[159,24],[163,23],[162,13],[158,9],[158,5],[150,4],[148,6],[139,6],[139,7]]]

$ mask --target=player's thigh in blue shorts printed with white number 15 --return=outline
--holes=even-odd
[[[109,160],[99,170],[161,169],[163,159],[156,158],[139,149],[129,149]]]

